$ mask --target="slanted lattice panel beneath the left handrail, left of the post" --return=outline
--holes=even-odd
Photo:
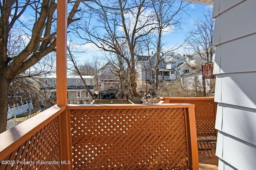
[[[60,169],[59,161],[59,141],[58,141],[58,121],[53,119],[40,131],[15,149],[4,160],[15,160],[15,164],[1,164],[0,169]],[[18,161],[34,161],[32,164],[23,164]],[[35,161],[40,161],[36,164]],[[56,161],[50,164],[42,164],[41,161]],[[46,162],[44,162],[46,163]],[[57,163],[57,164],[54,164]]]

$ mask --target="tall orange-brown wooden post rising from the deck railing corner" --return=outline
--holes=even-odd
[[[56,45],[56,96],[57,105],[66,106],[67,98],[67,4],[68,0],[57,3],[57,45]],[[70,112],[64,110],[58,116],[58,132],[61,170],[72,170],[72,143]]]

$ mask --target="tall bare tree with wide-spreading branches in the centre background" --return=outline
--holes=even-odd
[[[149,0],[96,0],[98,6],[89,6],[91,15],[78,26],[78,35],[99,49],[124,59],[129,72],[127,81],[130,83],[132,96],[136,92],[135,56],[136,44],[141,37],[150,33],[152,17],[146,15]],[[86,36],[80,34],[80,29]]]

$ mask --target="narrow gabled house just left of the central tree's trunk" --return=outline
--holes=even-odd
[[[99,92],[100,99],[114,99],[120,91],[120,79],[118,78],[117,68],[110,62],[102,66],[98,70]]]

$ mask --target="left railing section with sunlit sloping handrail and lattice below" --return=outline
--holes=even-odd
[[[1,133],[0,169],[72,168],[70,160],[62,160],[68,152],[64,146],[67,137],[61,139],[66,133],[61,125],[66,126],[63,115],[66,115],[66,106],[53,106]]]

